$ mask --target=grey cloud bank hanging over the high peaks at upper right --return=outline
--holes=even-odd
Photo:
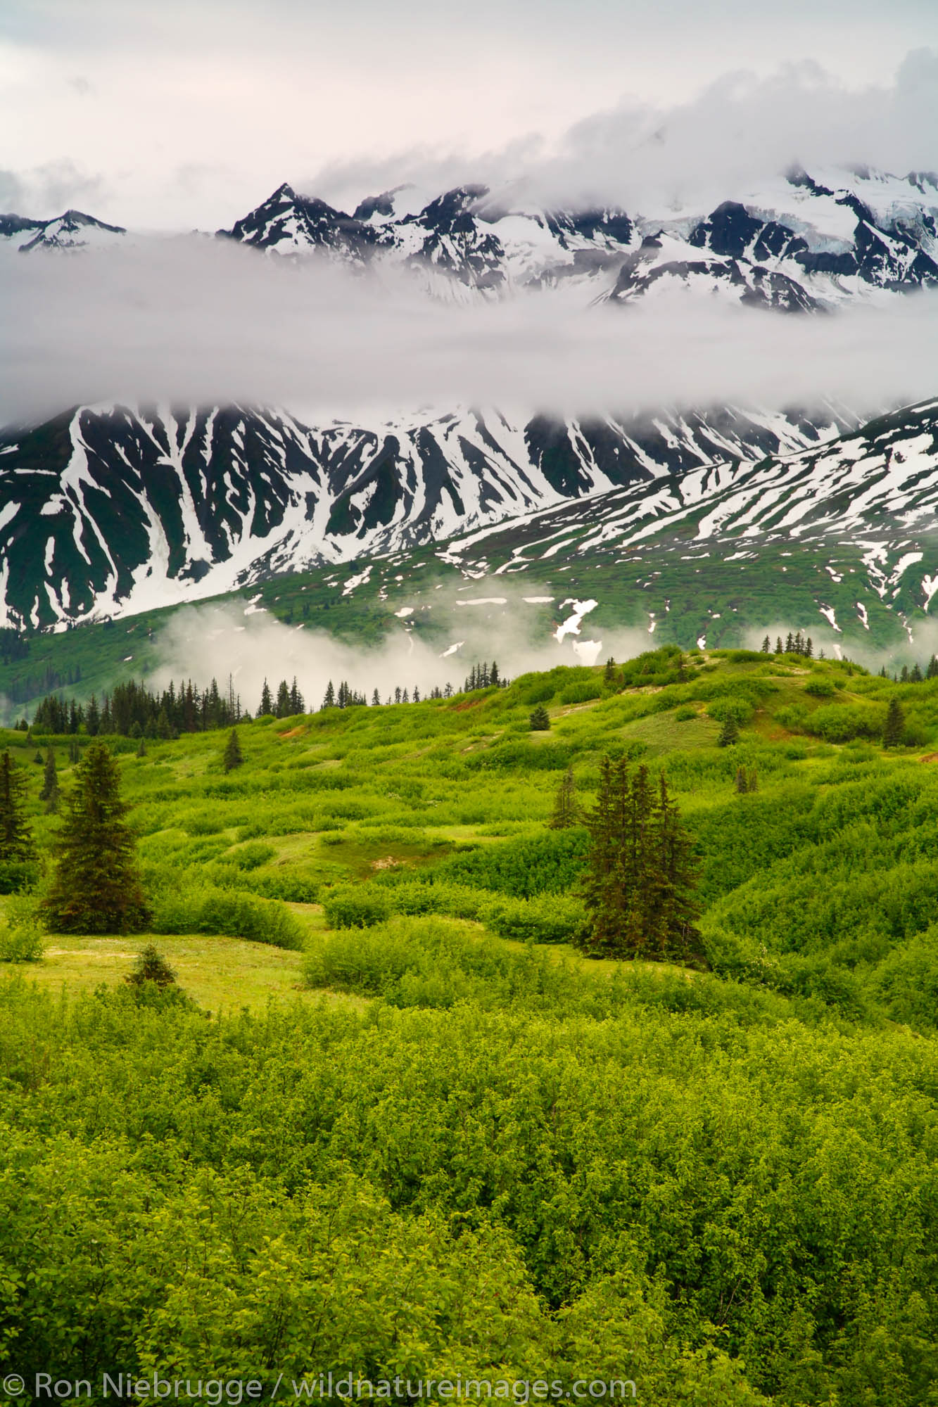
[[[301,190],[354,203],[414,182],[517,183],[546,204],[618,204],[666,214],[744,198],[793,163],[807,170],[876,166],[904,176],[938,165],[938,51],[915,49],[886,82],[849,84],[814,61],[766,75],[721,75],[682,103],[624,97],[562,136],[441,156],[417,148],[307,172]]]

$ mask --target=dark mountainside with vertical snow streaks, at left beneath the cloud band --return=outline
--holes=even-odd
[[[310,428],[237,407],[80,408],[0,436],[0,623],[131,615],[444,542],[714,460],[817,445],[844,411]],[[592,512],[592,509],[587,509]]]

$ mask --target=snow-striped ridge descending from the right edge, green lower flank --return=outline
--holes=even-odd
[[[807,453],[665,474],[455,536],[438,559],[475,584],[562,592],[524,601],[573,588],[594,636],[639,625],[744,644],[787,620],[834,651],[908,649],[938,598],[938,401]]]

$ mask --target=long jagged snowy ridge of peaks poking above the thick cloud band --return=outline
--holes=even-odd
[[[410,200],[407,196],[410,194]],[[359,267],[403,263],[432,291],[504,295],[575,280],[628,304],[677,286],[782,311],[938,286],[938,176],[793,170],[710,210],[546,210],[466,186],[421,204],[407,187],[352,215],[282,186],[221,236]],[[414,204],[417,210],[411,208]]]

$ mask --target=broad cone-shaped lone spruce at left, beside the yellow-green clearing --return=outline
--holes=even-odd
[[[137,870],[137,841],[127,825],[120,771],[104,743],[92,743],[66,798],[56,867],[42,902],[52,933],[135,933],[149,910]]]

